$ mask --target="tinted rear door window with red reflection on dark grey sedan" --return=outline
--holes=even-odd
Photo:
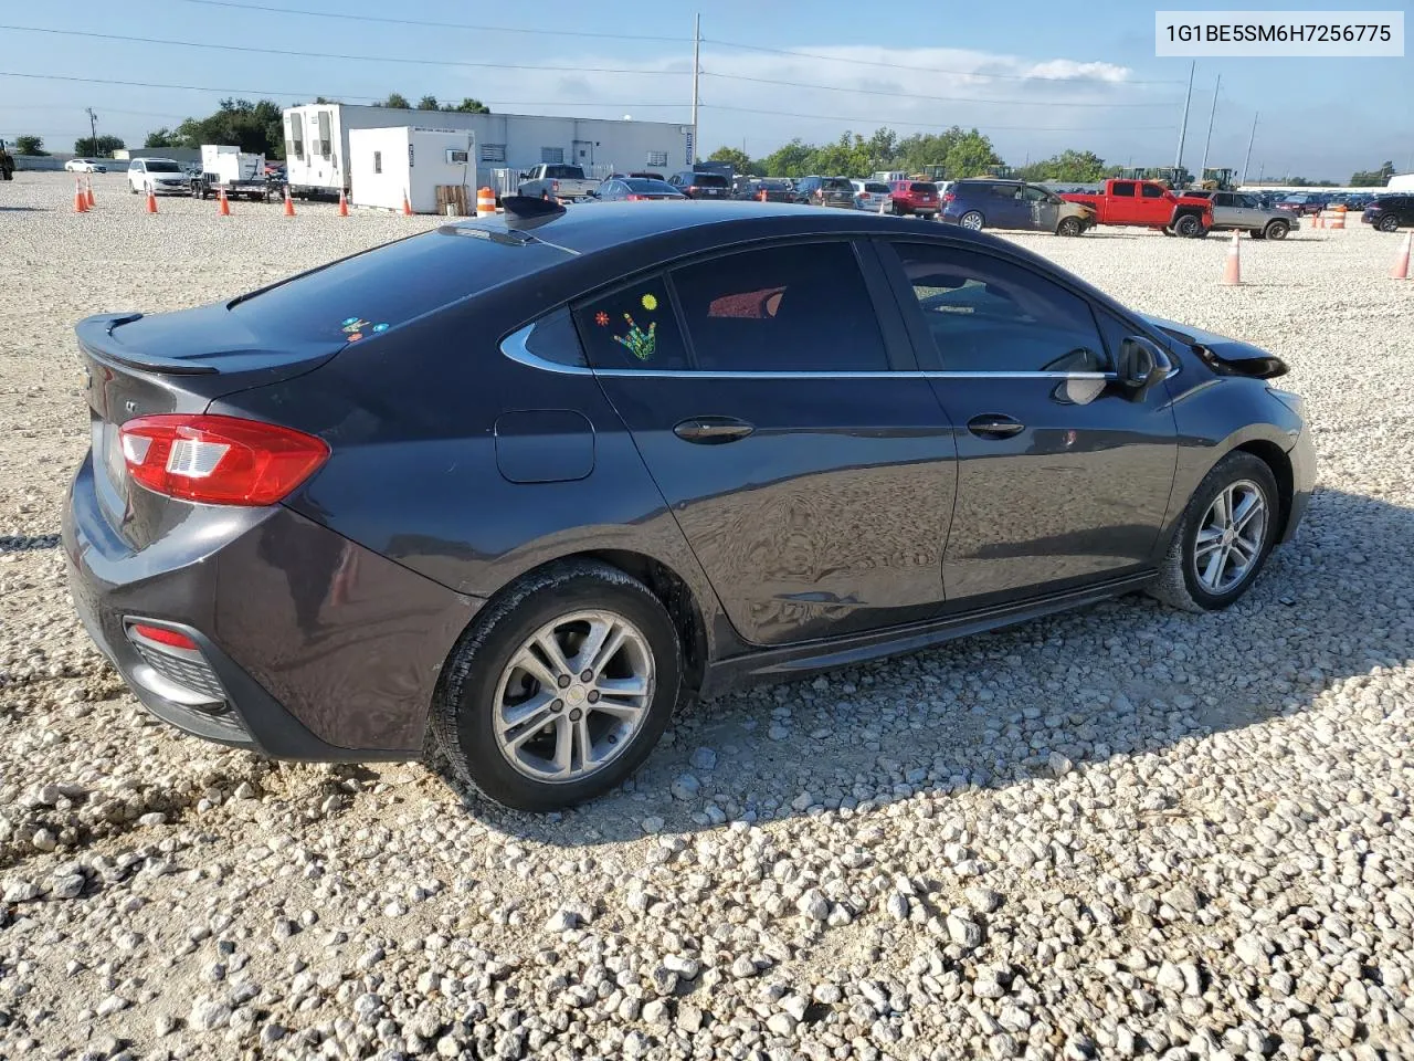
[[[715,257],[674,270],[673,287],[701,371],[888,371],[874,304],[846,242]]]

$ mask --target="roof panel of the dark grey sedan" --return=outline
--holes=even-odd
[[[626,246],[672,233],[691,235],[693,243],[710,242],[708,226],[723,226],[724,243],[752,239],[809,235],[912,235],[919,225],[912,218],[888,218],[865,211],[823,211],[786,202],[740,201],[680,201],[660,202],[595,202],[568,207],[563,216],[532,231],[539,239],[577,253],[592,253]],[[503,231],[496,218],[460,222],[457,228]],[[954,242],[984,242],[994,239],[962,228],[929,228],[930,236],[946,236]]]

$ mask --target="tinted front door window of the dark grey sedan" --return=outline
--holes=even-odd
[[[1044,276],[969,250],[896,243],[945,372],[1103,372],[1090,304]]]

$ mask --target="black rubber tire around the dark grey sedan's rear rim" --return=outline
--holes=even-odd
[[[516,770],[496,746],[493,700],[502,671],[534,631],[560,615],[607,608],[643,634],[653,656],[653,692],[629,744],[578,781],[537,781]],[[526,576],[489,604],[452,649],[431,712],[431,730],[452,771],[499,804],[554,811],[608,792],[658,744],[677,706],[682,648],[662,601],[636,579],[605,563],[575,560]]]

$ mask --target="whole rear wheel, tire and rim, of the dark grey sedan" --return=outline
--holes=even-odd
[[[680,675],[677,631],[646,586],[602,563],[551,564],[458,642],[433,734],[492,799],[553,811],[602,795],[648,758]]]

